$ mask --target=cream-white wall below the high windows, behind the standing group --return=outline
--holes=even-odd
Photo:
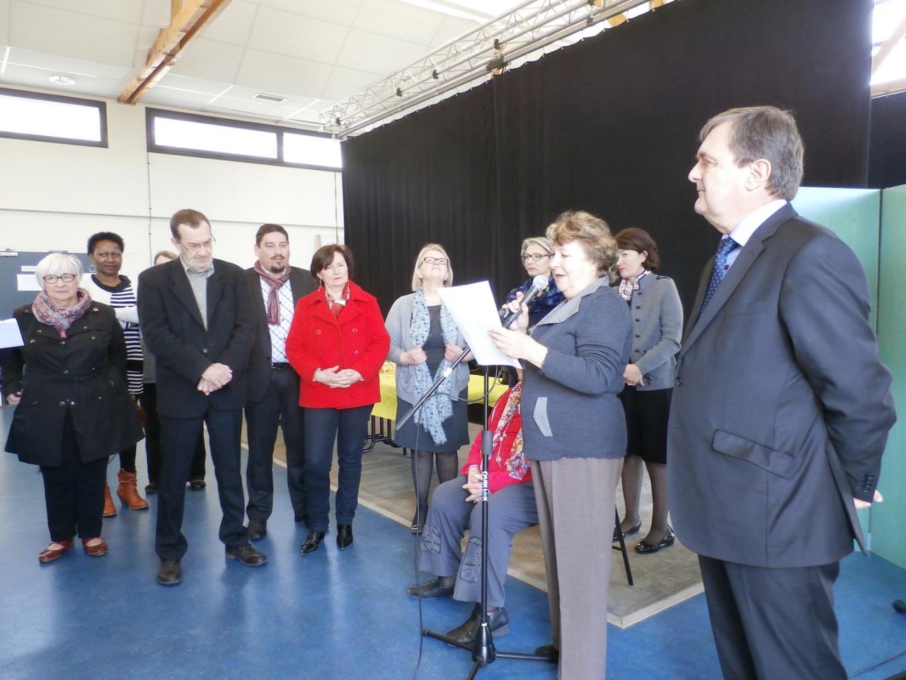
[[[113,231],[133,278],[169,249],[169,216],[201,210],[215,256],[250,267],[255,230],[282,224],[292,262],[308,267],[316,238],[342,242],[339,172],[149,153],[145,109],[107,102],[109,148],[0,138],[0,250],[84,252]]]

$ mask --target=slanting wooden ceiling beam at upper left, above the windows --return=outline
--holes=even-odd
[[[160,29],[158,39],[151,45],[148,60],[138,75],[120,94],[120,102],[139,102],[145,92],[176,65],[179,54],[230,0],[170,0],[170,23]]]

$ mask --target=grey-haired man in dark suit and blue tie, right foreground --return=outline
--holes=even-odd
[[[705,267],[670,410],[670,510],[699,553],[725,678],[845,678],[832,587],[895,421],[852,250],[789,205],[793,117],[734,109],[701,131]],[[864,547],[863,547],[864,549]]]

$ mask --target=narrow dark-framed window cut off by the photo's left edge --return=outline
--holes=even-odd
[[[0,137],[107,146],[107,105],[0,88]]]

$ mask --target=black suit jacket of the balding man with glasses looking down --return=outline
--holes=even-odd
[[[139,277],[139,320],[157,359],[158,413],[170,418],[203,415],[246,404],[248,361],[255,339],[246,273],[214,260],[207,279],[207,330],[179,259],[150,267]],[[205,396],[198,380],[211,364],[226,364],[233,380]]]

